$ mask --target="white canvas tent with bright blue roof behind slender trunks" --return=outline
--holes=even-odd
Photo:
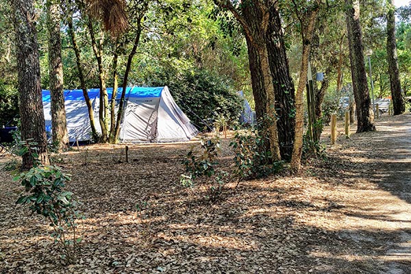
[[[119,101],[121,88],[116,96]],[[108,88],[111,99],[112,88]],[[69,139],[90,140],[90,122],[82,90],[65,91],[66,117]],[[99,89],[88,91],[95,112],[95,124],[99,127]],[[46,126],[51,125],[49,91],[43,91]],[[123,142],[181,142],[190,140],[197,129],[171,97],[169,88],[127,88],[125,112],[121,123],[120,140]]]

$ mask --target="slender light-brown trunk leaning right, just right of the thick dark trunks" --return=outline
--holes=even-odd
[[[301,58],[301,69],[299,74],[299,82],[297,92],[295,94],[295,140],[292,149],[291,170],[293,172],[301,169],[301,155],[303,153],[303,130],[304,130],[304,105],[303,92],[306,88],[308,60],[310,58],[312,34],[314,32],[314,25],[316,23],[316,16],[319,10],[316,8],[310,12],[308,23],[303,30],[301,30],[303,54]],[[302,23],[301,23],[302,25]]]

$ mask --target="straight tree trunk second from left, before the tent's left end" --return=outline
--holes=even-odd
[[[69,146],[69,135],[67,134],[66,109],[64,108],[60,5],[56,0],[47,1],[47,29],[49,33],[51,128],[53,144],[61,152]]]

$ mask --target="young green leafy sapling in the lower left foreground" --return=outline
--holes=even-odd
[[[57,166],[40,165],[38,149],[34,147],[35,145],[26,142],[26,145],[21,147],[20,154],[29,153],[34,167],[14,177],[14,181],[20,181],[25,187],[25,193],[17,199],[16,203],[29,204],[31,212],[49,221],[50,226],[53,227],[51,236],[63,249],[62,257],[72,264],[78,252],[77,244],[82,240],[77,235],[75,220],[82,215],[75,210],[77,201],[73,199],[73,193],[64,190],[71,175],[63,173]]]

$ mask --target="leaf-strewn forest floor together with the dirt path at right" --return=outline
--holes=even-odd
[[[124,145],[53,155],[86,215],[73,265],[47,223],[15,205],[22,187],[1,171],[0,273],[411,273],[411,116],[377,129],[340,134],[299,176],[230,184],[214,205],[179,184],[193,142],[130,145],[129,163]]]

